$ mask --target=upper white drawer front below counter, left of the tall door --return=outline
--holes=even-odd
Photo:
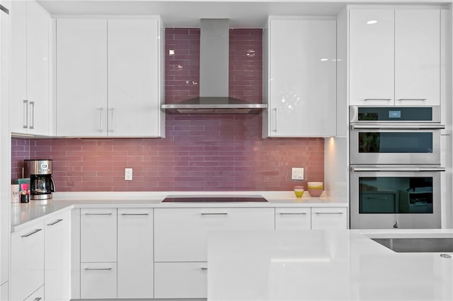
[[[116,262],[116,208],[81,208],[81,262]]]

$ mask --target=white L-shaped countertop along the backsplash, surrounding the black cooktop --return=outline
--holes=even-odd
[[[161,203],[167,196],[263,196],[262,202]],[[311,197],[305,191],[296,198],[293,191],[144,191],[144,192],[57,192],[48,201],[11,204],[11,231],[21,230],[34,221],[71,208],[200,208],[200,207],[347,207],[345,198]]]

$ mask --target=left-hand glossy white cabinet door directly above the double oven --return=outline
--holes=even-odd
[[[394,105],[394,10],[349,14],[350,105]]]

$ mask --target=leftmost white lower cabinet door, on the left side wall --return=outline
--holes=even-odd
[[[44,222],[11,233],[9,300],[25,300],[44,284]]]

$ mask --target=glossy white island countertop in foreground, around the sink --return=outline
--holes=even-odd
[[[453,259],[396,253],[365,232],[453,237],[453,230],[212,232],[208,300],[453,300]]]

